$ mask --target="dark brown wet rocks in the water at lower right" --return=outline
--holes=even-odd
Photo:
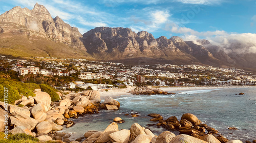
[[[209,138],[210,136],[210,140],[215,140],[214,142],[232,142],[225,138],[222,134],[220,134],[218,130],[209,127],[206,124],[202,124],[202,122],[191,113],[184,113],[180,121],[175,116],[169,117],[168,119],[164,120],[161,115],[156,113],[150,113],[148,116],[153,117],[151,121],[158,121],[158,127],[161,126],[170,131],[178,130],[180,134],[190,135],[204,141],[209,141],[205,138]],[[236,130],[237,128],[230,127],[228,129]]]

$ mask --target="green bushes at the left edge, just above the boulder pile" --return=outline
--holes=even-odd
[[[35,83],[23,83],[20,81],[14,81],[10,79],[0,78],[0,101],[4,102],[4,97],[9,104],[13,104],[15,100],[21,98],[20,95],[26,97],[35,96],[33,91],[39,89],[39,85]]]

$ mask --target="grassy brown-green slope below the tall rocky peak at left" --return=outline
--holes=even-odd
[[[29,39],[27,36],[7,33],[0,35],[0,54],[15,57],[44,56],[94,59],[85,50],[74,49],[63,43],[53,42],[41,37],[33,36]]]

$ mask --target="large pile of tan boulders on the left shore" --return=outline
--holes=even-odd
[[[0,114],[8,112],[8,130],[12,134],[26,133],[36,136],[41,141],[63,140],[70,142],[69,136],[59,135],[56,131],[67,128],[75,123],[70,118],[78,118],[85,114],[98,113],[99,109],[119,109],[120,103],[111,97],[106,97],[100,104],[98,91],[84,91],[62,95],[57,92],[60,101],[51,102],[51,97],[40,89],[34,91],[35,97],[22,97],[15,101],[15,105],[0,102]],[[0,131],[5,130],[4,116],[0,116]]]

